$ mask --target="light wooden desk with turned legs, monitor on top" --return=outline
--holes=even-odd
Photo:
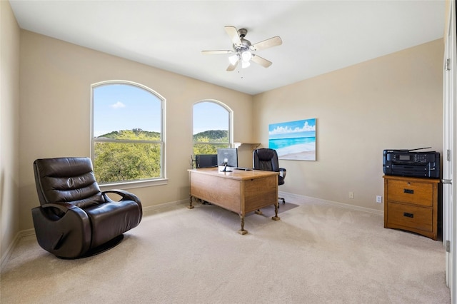
[[[238,213],[241,218],[240,234],[248,233],[244,230],[244,216],[256,211],[261,214],[260,208],[274,205],[274,221],[278,221],[278,172],[271,171],[243,171],[220,172],[218,168],[189,169],[192,198],[213,203],[216,206]]]

